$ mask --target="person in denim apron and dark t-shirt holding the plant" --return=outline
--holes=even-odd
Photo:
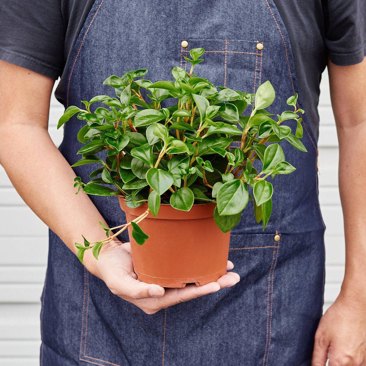
[[[0,7],[0,163],[52,230],[41,365],[320,366],[327,358],[330,366],[366,364],[364,1],[6,0]],[[281,106],[283,94],[299,93],[308,153],[290,156],[298,162],[299,183],[280,191],[278,200],[283,194],[291,204],[274,204],[281,214],[272,226],[256,234],[243,217],[233,230],[232,248],[243,250],[234,250],[242,281],[229,272],[216,283],[173,290],[136,279],[128,243],[104,247],[97,262],[87,252],[87,271],[63,246],[75,253],[81,232],[98,239],[104,235],[98,221],[113,224],[118,213],[86,194],[75,196],[70,162],[78,150],[76,135],[65,127],[60,153],[47,123],[57,77],[56,96],[67,107],[100,90],[102,75],[123,74],[140,63],[158,73],[165,59],[180,62],[187,47],[182,40],[212,52],[206,64],[218,85],[222,69],[231,88],[255,90],[270,79],[276,90],[283,88],[277,95]],[[321,318],[312,357],[324,284],[316,139],[326,64],[339,133],[347,255],[341,293]],[[276,227],[284,239],[265,245],[273,243]],[[246,245],[249,240],[255,244]],[[261,251],[268,247],[270,252]]]

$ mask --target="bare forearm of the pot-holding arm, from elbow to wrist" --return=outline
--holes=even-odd
[[[4,123],[0,163],[27,205],[74,253],[81,234],[90,241],[105,238],[98,224],[104,219],[86,194],[75,194],[75,173],[44,127]]]

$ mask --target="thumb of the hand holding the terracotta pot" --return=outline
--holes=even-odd
[[[125,276],[117,286],[109,287],[113,294],[122,298],[147,299],[158,298],[164,295],[164,287],[148,284],[134,279],[132,276]]]

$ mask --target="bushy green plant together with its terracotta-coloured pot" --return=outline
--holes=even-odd
[[[298,112],[304,111],[296,107],[295,94],[287,100],[294,111],[274,120],[265,109],[275,98],[269,81],[254,95],[217,89],[193,75],[203,52],[192,49],[191,59],[185,57],[190,72],[174,67],[174,81],[152,83],[143,78],[147,70],[112,75],[104,84],[115,89],[117,98],[96,96],[83,101],[83,109],[68,107],[60,118],[58,128],[75,114],[85,121],[78,133],[85,144],[78,152],[82,159],[72,167],[100,164],[90,182],[75,178],[78,192],[118,197],[127,217],[115,228],[100,223],[104,240],[90,243],[83,237],[83,245],[75,243],[80,261],[88,249],[98,259],[102,245],[128,229],[140,280],[165,287],[202,285],[225,273],[230,231],[249,199],[257,222],[266,227],[273,193],[266,179],[295,170],[277,142],[286,139],[306,152],[299,140]],[[163,108],[163,101],[170,107]],[[295,134],[284,124],[290,119],[297,120]],[[238,147],[230,147],[233,141]],[[102,151],[103,159],[96,155]],[[262,163],[261,169],[254,161]]]

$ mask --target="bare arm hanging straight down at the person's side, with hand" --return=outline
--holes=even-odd
[[[366,365],[366,59],[329,61],[332,107],[339,141],[339,190],[346,237],[341,292],[321,318],[313,366]]]

